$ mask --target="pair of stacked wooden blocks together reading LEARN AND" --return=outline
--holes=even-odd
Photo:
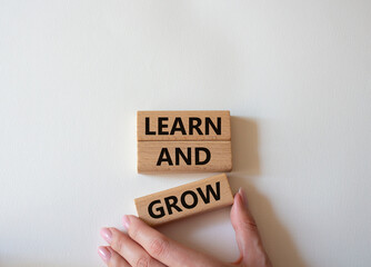
[[[138,172],[231,171],[229,111],[138,111]]]

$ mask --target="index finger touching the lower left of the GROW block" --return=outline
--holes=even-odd
[[[221,266],[218,260],[167,238],[136,216],[124,216],[123,225],[133,240],[167,266]]]

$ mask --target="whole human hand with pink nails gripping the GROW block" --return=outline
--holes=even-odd
[[[110,246],[99,247],[98,254],[109,267],[271,267],[241,188],[234,196],[231,222],[241,255],[233,264],[221,263],[184,247],[132,215],[123,217],[123,226],[128,234],[112,227],[101,229],[101,236]]]

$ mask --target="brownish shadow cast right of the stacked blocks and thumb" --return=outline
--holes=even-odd
[[[247,191],[250,209],[257,220],[264,247],[273,266],[304,267],[290,233],[275,215],[267,196],[254,186],[261,175],[259,160],[259,128],[250,118],[232,117],[233,172],[229,181],[233,191]]]

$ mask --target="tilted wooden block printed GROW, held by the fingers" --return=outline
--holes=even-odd
[[[151,226],[233,204],[225,174],[134,199],[139,218]]]

